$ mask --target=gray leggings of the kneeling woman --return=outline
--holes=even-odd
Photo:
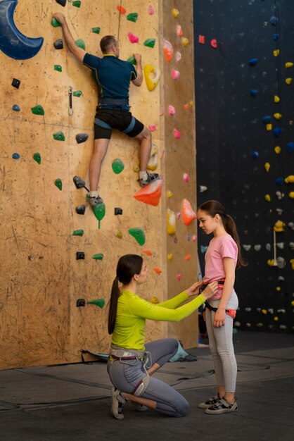
[[[158,363],[161,366],[169,361],[177,353],[179,344],[173,338],[155,340],[146,343],[145,350],[148,352],[148,367]],[[129,349],[128,349],[129,350]],[[129,350],[129,352],[132,352]],[[144,361],[141,360],[108,360],[108,375],[111,383],[122,392],[132,394],[141,379],[146,376]],[[186,416],[188,402],[173,387],[163,381],[150,377],[150,382],[141,395],[142,398],[152,399],[156,402],[156,411],[168,416]]]

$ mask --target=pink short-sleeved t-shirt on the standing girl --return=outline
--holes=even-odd
[[[222,261],[224,257],[234,259],[236,268],[238,247],[231,235],[213,237],[212,240],[210,240],[210,244],[205,253],[205,275],[203,278],[205,284],[226,277],[224,263]],[[221,297],[222,289],[218,290],[217,294],[211,297],[211,300],[217,300]]]

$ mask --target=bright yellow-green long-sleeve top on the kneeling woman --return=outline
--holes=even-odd
[[[203,294],[182,306],[188,299],[186,291],[166,302],[152,304],[131,291],[121,291],[112,343],[127,349],[145,350],[146,318],[155,321],[181,321],[205,302]],[[178,307],[179,306],[179,307]]]

